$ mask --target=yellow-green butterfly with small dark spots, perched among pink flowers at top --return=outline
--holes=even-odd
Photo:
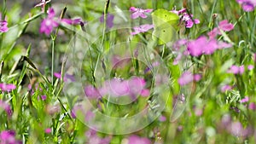
[[[177,37],[179,17],[166,9],[157,9],[152,13],[153,36],[159,44],[171,42]]]

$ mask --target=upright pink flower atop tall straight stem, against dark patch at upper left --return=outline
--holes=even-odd
[[[59,26],[59,23],[54,20],[55,17],[55,10],[50,8],[47,11],[48,16],[41,22],[40,32],[49,35],[54,27]]]

